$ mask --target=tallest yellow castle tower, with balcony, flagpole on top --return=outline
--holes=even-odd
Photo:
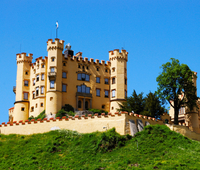
[[[62,51],[64,41],[47,41],[47,91],[46,114],[56,114],[62,107]]]

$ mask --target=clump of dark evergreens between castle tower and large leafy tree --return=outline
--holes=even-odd
[[[120,109],[118,111],[134,111],[137,114],[159,118],[160,115],[166,112],[162,105],[163,103],[155,93],[149,92],[146,97],[143,97],[143,93],[137,94],[134,90],[125,102],[119,103]]]

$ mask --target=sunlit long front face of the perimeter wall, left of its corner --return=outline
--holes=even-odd
[[[116,128],[116,131],[121,135],[124,135],[124,123],[125,123],[125,114],[117,115],[105,115],[101,116],[91,116],[88,117],[78,117],[75,118],[69,117],[63,119],[51,119],[43,121],[34,121],[31,122],[22,122],[19,123],[13,122],[10,124],[2,123],[0,125],[0,131],[2,134],[21,134],[29,135],[34,133],[44,133],[51,131],[52,129],[68,129],[75,130],[80,133],[91,133],[95,131],[106,131],[113,127]],[[106,127],[106,128],[103,128]]]

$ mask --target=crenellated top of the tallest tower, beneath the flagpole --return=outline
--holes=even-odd
[[[53,41],[52,39],[48,39],[47,41],[47,51],[49,50],[55,50],[55,49],[60,49],[63,51],[64,48],[64,40],[60,40],[58,38]]]

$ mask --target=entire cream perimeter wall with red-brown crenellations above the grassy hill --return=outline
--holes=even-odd
[[[31,120],[30,122],[27,120],[25,122],[14,121],[13,123],[8,122],[2,123],[0,125],[0,133],[1,134],[21,134],[21,135],[30,135],[34,133],[45,133],[55,129],[68,129],[68,130],[75,130],[79,133],[91,133],[95,131],[106,131],[115,127],[116,131],[121,135],[130,134],[130,121],[134,121],[136,125],[137,131],[143,129],[144,126],[148,124],[164,124],[163,120],[156,120],[155,118],[127,113],[127,112],[116,112],[114,115],[109,113],[105,115],[98,116],[95,114],[94,116],[88,115],[88,117],[82,116],[75,116],[73,117],[63,117],[62,119],[57,118],[50,120]],[[138,121],[142,122],[142,126],[140,124],[140,128],[138,127]],[[148,122],[148,123],[147,123]],[[200,141],[200,134],[192,132],[185,126],[185,124],[181,125],[172,125],[166,124],[171,130],[180,133],[190,139]]]

